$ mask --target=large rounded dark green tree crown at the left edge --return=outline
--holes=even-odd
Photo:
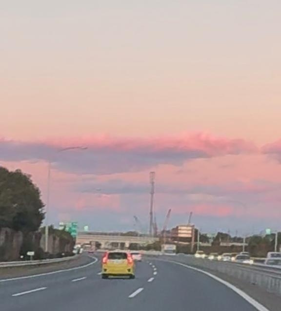
[[[0,167],[0,228],[37,231],[44,219],[39,188],[29,175]]]

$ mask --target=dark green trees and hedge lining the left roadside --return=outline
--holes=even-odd
[[[34,259],[71,254],[74,239],[50,227],[49,253],[44,252],[44,203],[40,189],[31,176],[20,170],[9,171],[0,166],[0,261],[25,258],[34,251]]]

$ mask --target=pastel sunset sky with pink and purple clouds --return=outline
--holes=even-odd
[[[48,222],[280,229],[279,0],[0,1],[0,165]],[[82,146],[86,150],[61,148]]]

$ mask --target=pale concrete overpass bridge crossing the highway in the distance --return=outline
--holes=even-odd
[[[141,246],[159,241],[158,237],[151,236],[127,236],[110,233],[79,232],[76,238],[77,244],[100,243],[101,249],[120,248],[126,249],[131,243]]]

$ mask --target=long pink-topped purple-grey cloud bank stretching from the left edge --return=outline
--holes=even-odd
[[[77,145],[87,147],[87,150],[58,152],[61,148]],[[96,136],[52,142],[0,140],[2,161],[51,160],[62,171],[97,175],[137,172],[161,164],[181,166],[192,159],[256,151],[252,142],[205,134],[156,138]]]

